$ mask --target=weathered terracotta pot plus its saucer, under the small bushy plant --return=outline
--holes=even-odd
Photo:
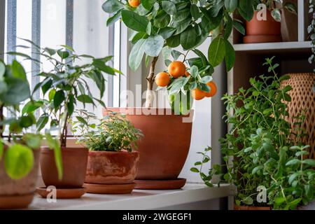
[[[139,152],[90,151],[85,188],[87,193],[131,193],[137,175]]]

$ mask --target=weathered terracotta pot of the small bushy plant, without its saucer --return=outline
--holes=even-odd
[[[139,153],[90,151],[85,183],[133,183],[137,175]]]

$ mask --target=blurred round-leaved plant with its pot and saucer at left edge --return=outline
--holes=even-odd
[[[21,110],[20,104],[28,99],[33,101],[23,66],[16,60],[8,65],[0,60],[0,209],[25,208],[34,197],[43,137],[31,130],[34,109],[28,103]]]

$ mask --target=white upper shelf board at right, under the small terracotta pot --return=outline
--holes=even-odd
[[[310,41],[279,42],[279,43],[239,43],[234,44],[235,51],[257,50],[290,50],[311,48]]]

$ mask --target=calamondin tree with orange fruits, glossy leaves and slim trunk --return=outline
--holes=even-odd
[[[160,87],[167,87],[171,102],[179,98],[183,113],[184,101],[180,95],[195,99],[211,96],[216,92],[215,84],[210,83],[214,67],[225,61],[227,69],[232,69],[235,50],[228,38],[233,27],[242,34],[245,32],[241,21],[233,19],[232,13],[251,20],[257,4],[258,1],[253,0],[107,0],[103,9],[111,13],[107,25],[121,19],[133,31],[130,36],[134,44],[130,52],[130,68],[136,70],[143,58],[146,64],[151,62],[146,78],[146,107],[153,106],[152,91],[156,80]],[[206,56],[197,47],[209,36],[213,39]],[[174,50],[179,46],[183,51]],[[188,59],[190,51],[196,56]],[[155,64],[161,52],[169,68],[156,76]],[[169,55],[174,62],[169,61]],[[186,97],[188,110],[191,97]]]

